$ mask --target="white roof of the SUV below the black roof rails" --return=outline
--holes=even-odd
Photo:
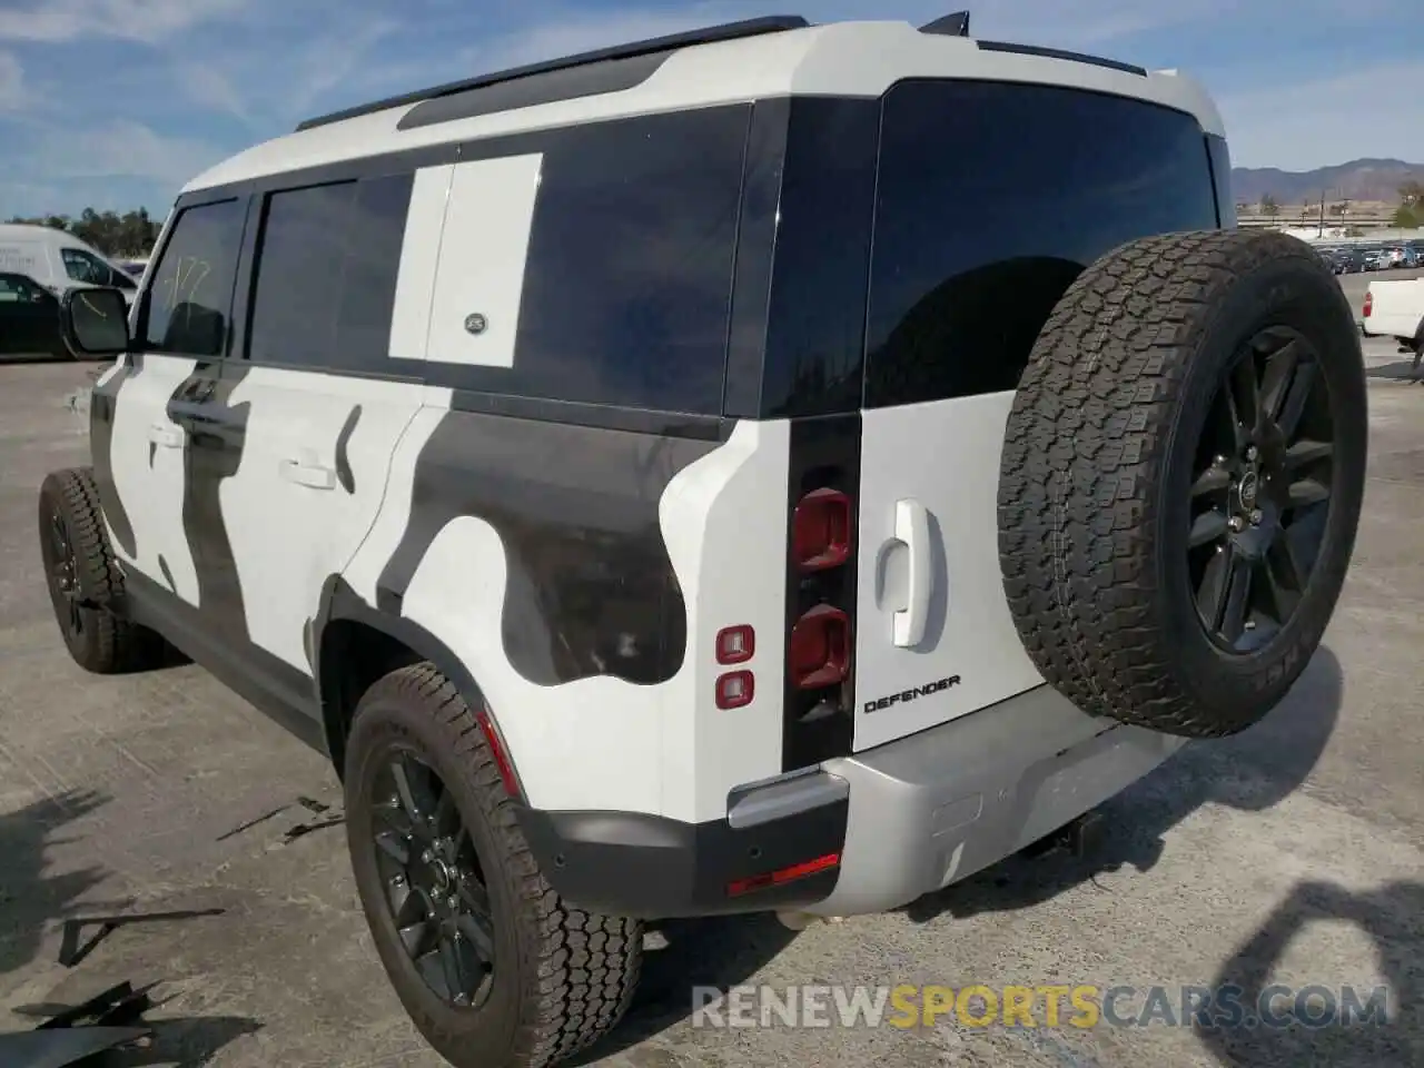
[[[414,130],[397,130],[396,124],[417,104],[357,115],[239,152],[194,178],[184,192],[407,148],[624,115],[766,97],[879,97],[896,81],[926,77],[1042,83],[1138,97],[1190,112],[1206,132],[1225,135],[1206,91],[1176,71],[1153,71],[1143,78],[1085,63],[981,51],[973,38],[920,33],[903,21],[852,21],[689,46],[668,57],[646,81],[617,93]]]

